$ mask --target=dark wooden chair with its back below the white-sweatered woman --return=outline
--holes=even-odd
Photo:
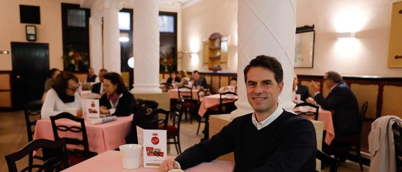
[[[58,119],[70,119],[72,121],[80,123],[81,127],[77,127],[77,126],[69,127],[66,125],[56,125],[55,121]],[[82,145],[84,147],[83,151],[76,150],[76,149],[74,149],[74,151],[69,151],[68,158],[70,160],[71,166],[74,166],[75,164],[85,161],[85,160],[91,158],[91,156],[93,156],[89,152],[88,136],[86,134],[84,118],[76,117],[70,113],[63,112],[63,113],[59,113],[56,116],[51,116],[50,121],[51,121],[51,126],[53,129],[53,136],[54,136],[55,141],[66,140],[67,144]],[[59,137],[58,131],[64,131],[64,132],[71,131],[73,133],[82,133],[82,140],[80,140],[78,138],[71,138],[71,137]]]

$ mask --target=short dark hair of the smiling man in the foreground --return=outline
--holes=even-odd
[[[271,70],[274,73],[275,81],[279,84],[283,81],[283,69],[281,63],[268,55],[258,55],[250,61],[250,64],[244,68],[244,82],[247,82],[247,73],[250,68],[261,67]]]

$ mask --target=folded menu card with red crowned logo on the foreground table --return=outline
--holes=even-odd
[[[144,168],[158,168],[167,158],[166,130],[137,126],[138,144],[143,147]]]

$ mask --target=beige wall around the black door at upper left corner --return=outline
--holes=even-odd
[[[49,67],[63,69],[61,2],[55,0],[2,0],[0,5],[0,50],[10,51],[0,55],[0,70],[12,70],[11,43],[28,42],[25,25],[20,23],[19,5],[40,6],[41,24],[36,25],[37,41],[49,43]]]

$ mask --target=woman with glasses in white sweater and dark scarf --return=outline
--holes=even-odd
[[[42,119],[49,119],[50,116],[62,112],[70,112],[73,115],[76,112],[76,116],[82,117],[82,100],[77,92],[79,86],[78,78],[74,74],[60,73],[55,78],[52,88],[47,91],[41,110]]]

